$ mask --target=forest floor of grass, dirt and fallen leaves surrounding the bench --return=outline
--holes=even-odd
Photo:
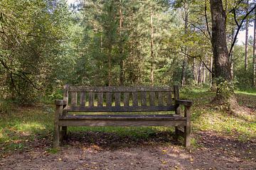
[[[205,90],[181,96],[194,101],[189,149],[174,128],[83,127],[55,150],[53,108],[16,108],[0,118],[0,169],[256,169],[256,92],[238,91],[244,115],[211,106]]]

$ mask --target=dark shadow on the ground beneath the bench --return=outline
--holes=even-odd
[[[102,149],[120,149],[141,145],[182,145],[174,132],[151,132],[146,136],[119,135],[117,132],[69,132],[63,145],[97,145]]]

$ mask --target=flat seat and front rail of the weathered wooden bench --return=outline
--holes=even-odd
[[[61,126],[185,126],[181,115],[64,115]]]

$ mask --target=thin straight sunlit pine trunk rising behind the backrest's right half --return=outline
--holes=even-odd
[[[153,10],[150,8],[150,54],[151,54],[151,66],[150,66],[150,80],[151,86],[154,86],[154,26],[153,26]]]

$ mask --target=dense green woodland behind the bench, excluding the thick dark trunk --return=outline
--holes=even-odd
[[[233,83],[255,88],[255,1],[223,8]],[[1,1],[1,102],[58,98],[63,84],[214,86],[211,28],[208,0]]]

